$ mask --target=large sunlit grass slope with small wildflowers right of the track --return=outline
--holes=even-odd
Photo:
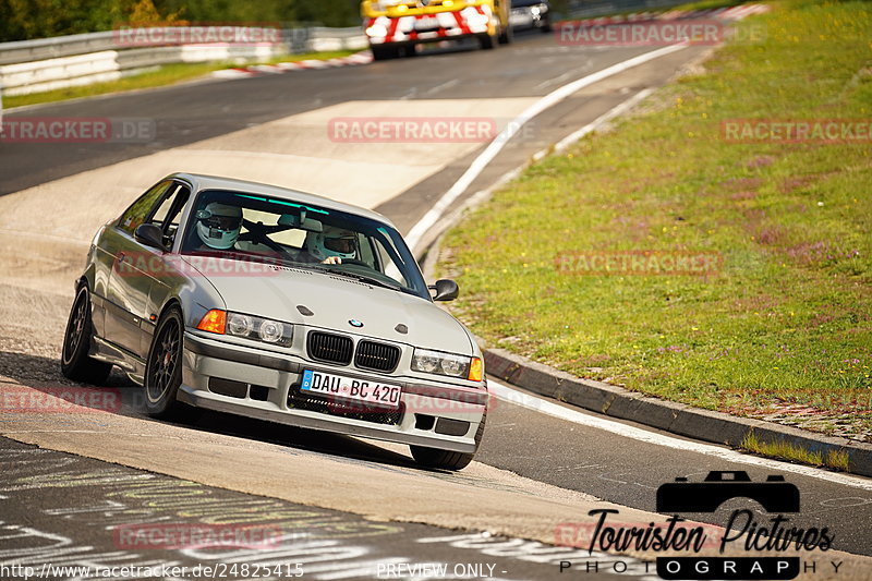
[[[872,7],[780,1],[615,131],[534,165],[445,240],[492,346],[736,414],[872,428],[872,146],[731,144],[720,121],[872,119]],[[749,38],[741,31],[737,37]],[[765,36],[765,38],[763,38]],[[712,276],[573,276],[583,251],[710,251]]]

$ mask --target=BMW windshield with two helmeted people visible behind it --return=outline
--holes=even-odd
[[[388,225],[299,202],[222,190],[197,195],[182,254],[263,259],[348,276],[429,300],[417,264]]]

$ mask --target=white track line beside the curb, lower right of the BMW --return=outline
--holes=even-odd
[[[803,476],[810,476],[844,486],[852,486],[855,488],[872,492],[872,480],[864,480],[859,476],[849,476],[847,474],[839,474],[836,472],[826,472],[812,467],[778,462],[777,460],[770,460],[767,458],[758,458],[756,456],[740,453],[729,448],[722,448],[718,446],[700,444],[697,441],[688,441],[685,439],[666,436],[664,434],[649,432],[647,429],[627,425],[614,420],[607,420],[605,417],[582,413],[570,408],[564,408],[562,406],[558,406],[557,403],[550,402],[543,398],[518,391],[517,389],[509,387],[501,382],[495,380],[493,377],[487,378],[487,390],[504,401],[514,403],[516,406],[526,408],[528,410],[534,410],[554,417],[559,417],[560,420],[566,420],[567,422],[572,422],[573,424],[585,425],[596,429],[602,429],[604,432],[610,432],[626,438],[632,438],[639,441],[654,444],[656,446],[664,446],[666,448],[674,448],[676,450],[687,450],[705,456],[713,456],[728,462],[751,464],[755,467],[767,468],[770,470],[777,470],[779,472],[792,472]]]

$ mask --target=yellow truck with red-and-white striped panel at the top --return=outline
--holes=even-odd
[[[363,29],[374,60],[412,57],[415,46],[476,38],[483,49],[511,43],[511,0],[364,0]]]

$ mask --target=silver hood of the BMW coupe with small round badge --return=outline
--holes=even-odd
[[[185,257],[183,257],[185,258]],[[201,273],[233,268],[227,258],[186,259]],[[204,275],[228,311],[339,332],[364,335],[460,354],[473,354],[470,336],[451,315],[429,301],[355,279],[284,266],[243,275]],[[311,312],[311,315],[303,313]],[[356,328],[350,320],[363,323]],[[397,330],[405,326],[407,332]]]

